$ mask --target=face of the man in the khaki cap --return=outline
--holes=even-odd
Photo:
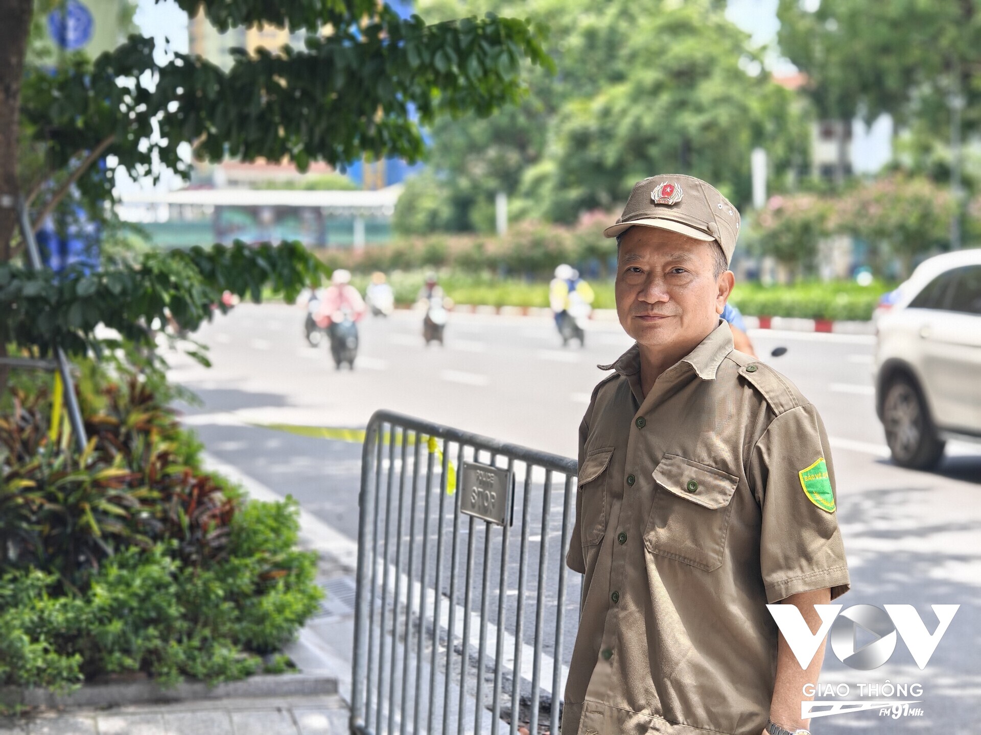
[[[644,347],[689,347],[718,324],[732,289],[730,271],[715,277],[712,242],[635,226],[620,242],[616,310]]]

